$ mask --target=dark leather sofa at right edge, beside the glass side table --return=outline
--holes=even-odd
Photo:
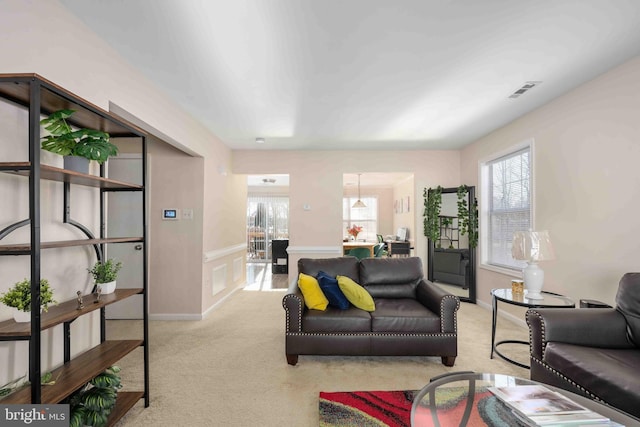
[[[616,305],[528,310],[531,379],[640,417],[640,273],[622,277]]]

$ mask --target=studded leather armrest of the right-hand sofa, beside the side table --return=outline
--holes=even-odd
[[[633,348],[624,316],[613,308],[527,310],[531,356],[542,360],[548,342],[600,348]]]

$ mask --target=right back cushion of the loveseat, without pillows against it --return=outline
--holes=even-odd
[[[422,261],[410,258],[365,258],[360,261],[360,284],[374,298],[415,298],[424,277]]]

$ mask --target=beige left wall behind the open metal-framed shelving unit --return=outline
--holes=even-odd
[[[124,62],[109,45],[55,0],[2,1],[0,38],[3,40],[0,72],[35,72],[105,110],[115,104],[149,128],[166,135],[172,144],[199,156],[176,156],[176,163],[172,163],[173,160],[168,159],[164,162],[166,153],[155,153],[158,164],[151,165],[155,168],[150,190],[163,191],[163,186],[175,188],[172,187],[174,184],[185,184],[174,193],[179,202],[181,198],[187,198],[185,203],[193,206],[194,222],[182,224],[183,229],[176,230],[175,238],[166,239],[158,247],[153,246],[153,239],[156,237],[162,240],[163,233],[155,227],[162,228],[166,224],[160,224],[159,220],[156,220],[158,224],[150,224],[150,262],[158,267],[159,263],[165,261],[163,267],[172,270],[171,274],[158,274],[160,270],[155,270],[155,275],[150,274],[152,280],[149,283],[149,294],[152,314],[171,314],[172,318],[201,318],[244,281],[244,265],[241,277],[236,278],[231,274],[233,261],[242,260],[246,250],[246,245],[243,245],[246,183],[241,177],[230,173],[231,150],[172,103],[164,93]],[[25,121],[23,113],[4,116],[0,113],[0,116],[0,126],[26,129],[20,126]],[[24,131],[18,132],[23,133],[18,133],[17,140],[26,141]],[[26,143],[24,147],[6,144],[7,141],[14,140],[16,139],[0,139],[0,155],[3,160],[15,160],[16,157],[26,159]],[[173,167],[179,165],[185,168]],[[195,167],[192,168],[192,165]],[[189,183],[186,184],[185,181]],[[25,194],[22,191],[25,185],[15,178],[4,182],[0,185],[2,200],[16,200],[16,204],[15,207],[12,204],[11,210],[4,210],[12,216],[0,217],[0,228],[16,218],[25,217],[22,210],[27,200],[26,196],[20,195]],[[42,193],[52,212],[50,216],[45,216],[42,224],[43,237],[73,238],[68,235],[72,231],[58,224],[59,212],[62,211],[58,186],[55,183],[45,184]],[[82,189],[74,193],[74,203],[85,203],[78,209],[74,219],[90,227],[97,227],[97,214],[91,208],[95,206],[93,196],[83,193]],[[169,201],[161,200],[162,203]],[[149,214],[150,217],[157,215],[156,218],[159,218],[157,211],[150,211]],[[20,233],[24,231],[12,238],[21,239]],[[185,247],[188,249],[184,250]],[[57,299],[69,299],[76,289],[89,286],[85,269],[92,262],[91,256],[91,250],[87,248],[47,252],[46,259],[43,260],[43,274],[56,283],[61,283],[56,285],[59,287],[56,289]],[[0,270],[3,275],[0,292],[3,292],[18,280],[16,277],[21,279],[28,275],[29,261],[23,257],[1,258]],[[68,259],[83,261],[69,265],[66,261]],[[10,266],[7,264],[9,262]],[[210,282],[216,266],[225,266],[229,274],[224,291],[214,296],[211,295]],[[0,320],[9,317],[9,312],[4,307],[0,308]],[[84,337],[72,340],[74,352],[81,351],[99,339],[95,316],[85,317],[86,319],[74,322],[73,328],[79,330],[74,336]],[[43,361],[43,369],[60,363],[62,340],[58,329],[52,328],[45,334],[43,348],[46,349],[47,357]],[[8,369],[0,369],[0,384],[25,372],[25,354],[25,343],[0,343],[0,360],[10,361]]]

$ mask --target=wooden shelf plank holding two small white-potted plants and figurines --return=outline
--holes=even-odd
[[[77,319],[78,317],[98,310],[109,304],[113,304],[132,295],[142,293],[142,288],[134,289],[116,289],[113,293],[100,296],[100,302],[93,302],[93,295],[83,295],[84,308],[78,310],[78,301],[76,299],[65,301],[58,305],[49,307],[49,311],[41,314],[40,328],[42,330],[52,328],[64,322]],[[1,338],[28,338],[31,336],[31,324],[18,323],[13,319],[0,322]]]

